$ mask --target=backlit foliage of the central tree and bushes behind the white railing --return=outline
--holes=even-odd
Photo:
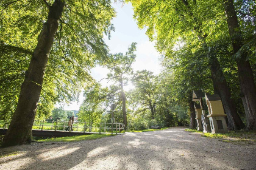
[[[85,89],[85,100],[80,106],[79,119],[92,121],[110,121],[110,115],[106,110],[110,104],[118,105],[115,110],[115,121],[124,121],[125,116],[123,106],[126,102],[126,94],[123,87],[127,85],[129,75],[132,74],[132,63],[135,61],[136,43],[132,43],[126,54],[117,53],[110,54],[104,64],[110,70],[107,75],[107,80],[112,84],[109,87],[102,88],[100,84],[94,83]],[[121,106],[120,106],[121,105]],[[102,116],[104,114],[104,116]]]

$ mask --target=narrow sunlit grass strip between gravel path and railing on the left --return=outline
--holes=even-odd
[[[58,141],[80,141],[80,140],[94,140],[97,138],[109,137],[111,134],[91,134],[91,135],[80,135],[73,137],[59,137],[59,138],[46,138],[37,141],[43,142],[58,142]]]

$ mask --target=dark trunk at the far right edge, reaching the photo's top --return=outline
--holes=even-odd
[[[238,53],[243,46],[243,35],[240,31],[240,25],[238,24],[233,0],[223,1],[227,16],[227,26],[229,27],[229,35],[232,39],[233,51],[234,53]],[[240,56],[236,57],[236,64],[238,66],[240,89],[246,101],[244,104],[247,105],[244,109],[249,108],[249,112],[247,112],[249,115],[246,115],[246,117],[252,117],[252,119],[254,119],[254,121],[248,123],[254,123],[249,124],[249,126],[256,129],[256,86],[254,83],[254,76],[249,60],[247,60],[248,53],[245,50],[239,53]]]

